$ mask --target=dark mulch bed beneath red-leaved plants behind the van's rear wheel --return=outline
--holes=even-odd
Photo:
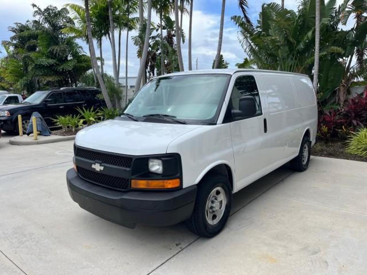
[[[330,142],[317,140],[315,146],[312,147],[312,155],[316,155],[319,157],[342,158],[367,162],[367,157],[360,157],[358,155],[346,153],[345,147],[346,143],[342,140],[330,140]]]

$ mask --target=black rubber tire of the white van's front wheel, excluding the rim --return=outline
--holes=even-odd
[[[207,219],[207,202],[211,193],[217,189],[215,192],[220,195],[221,190],[225,194],[225,206],[222,216],[219,218],[215,224],[210,224]],[[219,205],[223,205],[218,202]],[[190,231],[201,237],[210,238],[217,235],[224,228],[230,213],[232,206],[232,191],[230,189],[230,183],[226,176],[212,173],[204,177],[203,180],[197,186],[197,195],[195,201],[195,207],[191,217],[186,221],[186,225]],[[218,209],[217,209],[218,210]],[[219,209],[220,211],[220,209]],[[215,213],[212,217],[215,217]],[[212,222],[214,222],[212,220]]]

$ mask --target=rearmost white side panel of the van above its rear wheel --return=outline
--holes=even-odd
[[[308,77],[292,77],[294,91],[297,99],[297,107],[301,114],[303,133],[309,129],[312,145],[316,141],[317,133],[317,101],[313,84]],[[302,133],[302,136],[303,136]]]

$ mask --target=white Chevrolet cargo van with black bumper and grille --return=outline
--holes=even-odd
[[[208,70],[153,78],[124,115],[80,131],[69,194],[127,227],[224,227],[232,194],[290,161],[307,169],[317,105],[308,76]]]

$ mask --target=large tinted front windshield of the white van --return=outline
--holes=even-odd
[[[215,122],[219,104],[230,76],[197,74],[167,76],[147,83],[127,106],[124,113],[134,117],[161,114],[195,123]]]

